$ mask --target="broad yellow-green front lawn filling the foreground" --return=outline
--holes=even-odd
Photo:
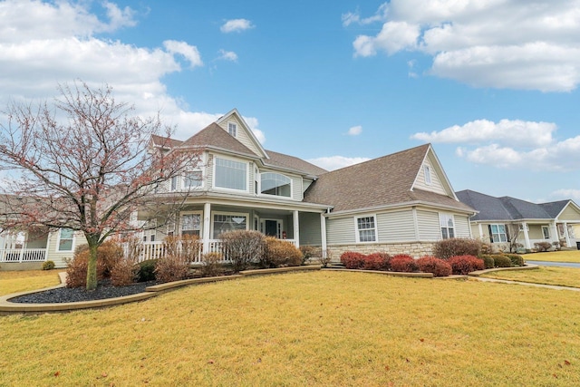
[[[249,277],[0,316],[0,385],[579,385],[578,315],[580,294],[521,285]]]

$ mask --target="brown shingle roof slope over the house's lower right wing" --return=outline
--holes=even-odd
[[[421,145],[325,173],[306,190],[304,201],[332,203],[333,211],[380,208],[418,200],[471,210],[455,198],[420,189],[411,191],[429,149],[429,144]]]

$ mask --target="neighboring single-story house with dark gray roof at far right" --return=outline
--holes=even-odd
[[[575,247],[574,227],[580,225],[580,207],[573,200],[531,203],[518,198],[495,198],[472,190],[456,194],[463,203],[478,210],[470,219],[473,237],[503,250],[509,248],[510,241],[526,249],[534,248],[538,242],[560,242]]]

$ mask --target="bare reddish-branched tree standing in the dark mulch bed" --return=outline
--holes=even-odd
[[[97,247],[113,234],[154,227],[184,196],[160,192],[162,184],[197,163],[191,150],[171,148],[157,117],[140,118],[116,102],[110,86],[59,85],[60,99],[11,103],[0,121],[0,169],[9,182],[0,197],[3,228],[66,227],[86,237],[88,290],[96,288]],[[153,135],[167,141],[152,150]],[[161,144],[163,145],[163,144]],[[162,149],[165,149],[163,151]],[[139,224],[131,214],[146,214]],[[158,225],[159,226],[159,225]]]

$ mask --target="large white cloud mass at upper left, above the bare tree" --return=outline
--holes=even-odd
[[[203,64],[195,45],[167,40],[163,47],[148,48],[97,38],[96,34],[135,25],[135,14],[110,1],[92,4],[102,5],[106,17],[100,20],[90,12],[90,3],[0,2],[0,106],[9,100],[51,100],[58,94],[58,82],[81,79],[92,87],[111,85],[115,99],[134,104],[137,114],[159,112],[164,122],[177,126],[179,140],[223,115],[188,111],[161,82],[165,75],[182,70],[178,55],[190,68]],[[265,141],[257,120],[253,124],[256,137]]]

